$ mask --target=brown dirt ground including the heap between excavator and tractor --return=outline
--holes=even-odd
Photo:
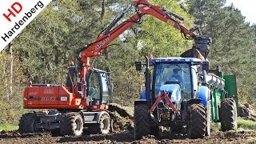
[[[116,109],[116,108],[115,108]],[[2,143],[256,143],[256,130],[243,130],[221,132],[218,126],[213,125],[210,137],[202,139],[189,139],[181,134],[164,133],[162,138],[148,135],[141,140],[134,140],[134,122],[132,121],[133,110],[118,110],[109,112],[114,121],[114,132],[112,134],[82,134],[80,137],[58,136],[53,137],[49,132],[38,134],[20,134],[17,130],[0,132],[0,144]],[[130,113],[130,114],[129,114]],[[126,118],[123,118],[126,116]]]

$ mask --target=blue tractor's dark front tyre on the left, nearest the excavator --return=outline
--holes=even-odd
[[[138,104],[134,107],[134,138],[141,139],[150,134],[150,107],[147,104]]]

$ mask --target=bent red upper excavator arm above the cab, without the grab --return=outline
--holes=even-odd
[[[132,16],[130,19],[122,22],[119,26],[111,30],[114,25],[127,13],[131,6],[134,6],[137,9],[137,14],[134,14],[134,16]],[[87,63],[89,62],[88,58],[100,56],[102,49],[105,49],[106,46],[110,44],[110,42],[114,41],[115,38],[118,38],[120,34],[130,28],[130,26],[133,26],[134,23],[139,22],[142,16],[146,14],[150,14],[162,22],[166,22],[167,24],[174,26],[174,28],[180,30],[184,35],[189,35],[192,38],[196,38],[194,31],[199,30],[198,26],[194,26],[190,30],[187,29],[185,26],[182,26],[181,22],[177,20],[177,18],[179,20],[184,20],[184,18],[170,12],[169,10],[166,10],[165,8],[160,6],[153,6],[146,0],[134,1],[131,3],[131,6],[124,10],[124,12],[122,12],[122,14],[120,14],[117,18],[115,18],[114,22],[112,22],[110,26],[105,31],[103,31],[103,33],[100,34],[93,43],[84,47],[82,51],[80,51],[81,53],[79,56],[81,58],[81,62],[89,65],[89,63]]]

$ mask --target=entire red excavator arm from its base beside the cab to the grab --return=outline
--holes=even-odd
[[[136,14],[114,28],[114,26],[123,18],[123,16],[130,11],[131,7],[135,8]],[[128,8],[120,15],[118,15],[113,22],[111,22],[110,26],[108,26],[106,30],[103,30],[102,33],[98,35],[98,38],[96,38],[93,43],[78,50],[78,61],[81,62],[81,65],[79,66],[80,71],[78,83],[83,83],[85,81],[87,71],[90,69],[90,58],[100,56],[102,54],[101,51],[105,49],[110,42],[113,42],[115,38],[118,38],[120,34],[130,28],[130,26],[133,26],[134,23],[141,22],[142,17],[146,14],[149,14],[154,18],[158,18],[162,22],[166,22],[167,24],[170,24],[174,28],[180,30],[185,38],[192,38],[194,39],[195,43],[199,42],[199,45],[195,45],[195,48],[197,48],[196,46],[202,46],[201,42],[204,42],[202,40],[206,39],[202,36],[202,32],[198,26],[194,26],[191,29],[187,29],[186,26],[183,26],[180,21],[184,21],[184,18],[178,16],[178,14],[174,14],[161,6],[154,6],[146,0],[135,0],[134,2],[131,2],[130,6],[128,6]],[[194,34],[195,31],[198,31],[199,35]],[[207,46],[209,43],[207,43]],[[205,46],[203,48],[205,49]],[[200,54],[198,50],[196,50],[196,53]],[[182,54],[182,56],[189,57],[190,54],[194,54],[194,51],[193,53],[191,51],[187,51],[185,54]]]

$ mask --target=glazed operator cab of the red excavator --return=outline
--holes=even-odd
[[[89,70],[86,84],[89,106],[106,105],[110,102],[113,87],[110,73],[98,69]]]

